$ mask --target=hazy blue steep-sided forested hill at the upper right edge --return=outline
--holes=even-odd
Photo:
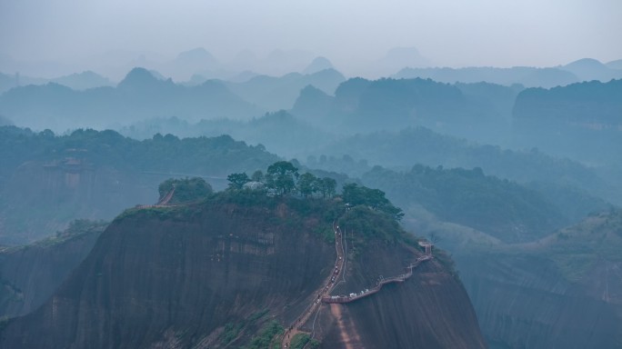
[[[513,128],[521,145],[588,164],[622,165],[622,80],[524,90]]]

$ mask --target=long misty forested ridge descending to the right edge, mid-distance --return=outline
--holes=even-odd
[[[405,151],[407,150],[407,151]],[[370,165],[410,169],[421,164],[446,168],[481,167],[488,175],[515,180],[577,186],[619,203],[622,198],[610,191],[594,169],[577,162],[546,155],[537,149],[515,151],[495,145],[479,145],[465,139],[439,135],[425,127],[406,128],[399,132],[376,132],[343,138],[318,151]],[[346,160],[332,163],[310,164],[324,166],[333,171],[346,171]],[[365,172],[365,171],[362,171]],[[355,175],[362,175],[359,170]]]

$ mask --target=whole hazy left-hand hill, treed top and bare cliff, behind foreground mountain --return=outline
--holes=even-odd
[[[224,187],[227,174],[278,160],[228,135],[136,141],[114,131],[56,136],[15,126],[0,127],[0,158],[0,244],[54,234],[75,218],[110,219],[128,206],[153,204],[157,185],[171,176],[208,177]]]

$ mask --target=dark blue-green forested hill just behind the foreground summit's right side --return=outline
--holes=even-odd
[[[484,175],[480,168],[416,165],[397,173],[376,166],[363,181],[385,188],[402,206],[420,204],[441,220],[471,226],[507,242],[529,241],[567,223],[536,191]]]

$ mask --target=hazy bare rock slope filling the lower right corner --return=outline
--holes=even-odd
[[[622,264],[602,262],[587,284],[571,284],[546,258],[458,259],[491,348],[618,348],[622,304],[607,299],[622,289]],[[479,271],[479,273],[477,273]],[[607,275],[608,274],[608,275]],[[601,284],[597,293],[589,284]]]

